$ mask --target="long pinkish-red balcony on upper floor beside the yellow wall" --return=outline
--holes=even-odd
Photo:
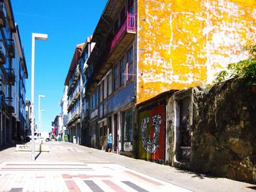
[[[108,61],[115,61],[136,34],[136,15],[127,12],[127,18],[110,42]]]

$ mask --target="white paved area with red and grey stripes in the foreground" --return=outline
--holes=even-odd
[[[118,164],[0,165],[0,191],[188,191]]]

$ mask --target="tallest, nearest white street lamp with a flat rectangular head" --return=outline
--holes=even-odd
[[[35,160],[34,155],[34,42],[35,40],[46,41],[47,34],[34,34],[32,33],[32,50],[31,50],[31,160]]]

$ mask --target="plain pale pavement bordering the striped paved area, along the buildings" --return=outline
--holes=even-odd
[[[29,152],[15,152],[15,147],[2,150],[0,151],[0,166],[3,167],[8,162],[16,162],[16,164],[118,164],[190,191],[255,191],[256,189],[256,185],[249,183],[208,177],[68,142],[48,142],[47,145],[50,152],[36,153],[35,162],[31,161]]]

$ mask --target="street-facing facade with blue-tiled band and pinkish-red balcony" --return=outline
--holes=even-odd
[[[115,151],[132,155],[135,128],[136,5],[108,1],[91,39],[87,61],[91,146],[105,148],[113,134]]]

